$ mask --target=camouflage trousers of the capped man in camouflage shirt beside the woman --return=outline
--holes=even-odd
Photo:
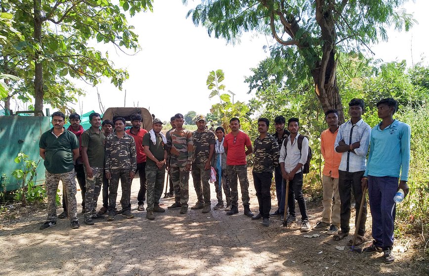
[[[211,205],[210,201],[210,169],[206,170],[204,164],[192,163],[192,179],[199,203]]]

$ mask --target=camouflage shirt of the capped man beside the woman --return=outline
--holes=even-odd
[[[192,133],[192,142],[194,143],[192,162],[206,164],[210,155],[210,145],[216,143],[214,133],[207,129],[201,133],[196,130]]]

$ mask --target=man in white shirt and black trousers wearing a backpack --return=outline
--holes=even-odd
[[[289,198],[288,207],[289,215],[287,223],[296,221],[295,216],[295,198],[298,201],[301,213],[301,232],[308,232],[311,230],[310,223],[308,222],[307,206],[302,194],[302,166],[307,161],[308,156],[308,139],[298,133],[300,129],[300,122],[298,118],[290,118],[288,120],[288,130],[291,133],[287,139],[282,143],[280,149],[280,169],[282,170],[283,178],[289,179]],[[301,138],[300,138],[301,136]],[[298,146],[299,140],[302,140],[300,148]],[[285,146],[286,145],[286,146]],[[285,207],[286,187],[282,185],[282,201],[280,203],[280,210]]]

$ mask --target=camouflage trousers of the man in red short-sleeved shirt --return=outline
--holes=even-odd
[[[246,165],[226,165],[226,172],[231,187],[231,205],[238,206],[238,179],[240,180],[241,200],[243,205],[249,205],[249,179],[247,178]]]

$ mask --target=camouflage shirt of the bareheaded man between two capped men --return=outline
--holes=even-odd
[[[167,135],[167,147],[170,148],[169,156],[177,161],[192,161],[194,145],[192,133],[189,130],[172,130]]]

